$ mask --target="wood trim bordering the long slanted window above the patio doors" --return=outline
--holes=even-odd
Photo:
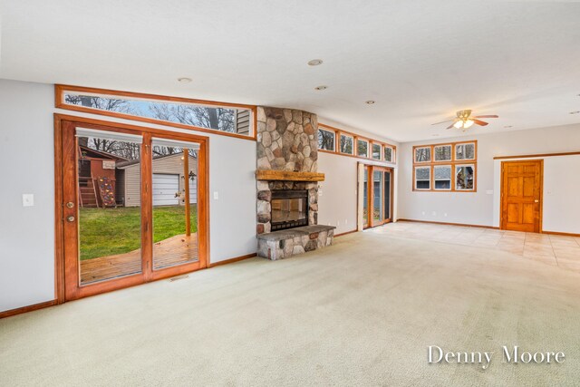
[[[217,131],[214,129],[201,128],[198,126],[182,124],[179,122],[163,121],[163,120],[151,119],[148,117],[140,117],[140,116],[135,116],[135,115],[131,115],[131,114],[121,113],[121,112],[117,112],[117,111],[102,111],[102,110],[98,110],[98,109],[88,108],[85,106],[72,105],[72,104],[63,102],[64,92],[86,92],[89,94],[129,97],[129,98],[142,99],[142,100],[193,103],[193,104],[203,104],[203,105],[213,105],[213,106],[248,109],[248,110],[252,111],[252,116],[253,116],[253,118],[250,120],[252,123],[252,128],[251,128],[252,135],[248,136],[248,135],[244,135],[244,134],[229,133],[227,131]],[[68,110],[68,111],[82,111],[82,112],[91,113],[91,114],[115,117],[115,118],[120,118],[123,120],[153,123],[156,125],[164,125],[164,126],[169,126],[169,127],[173,127],[173,128],[188,129],[191,131],[201,131],[204,133],[212,133],[212,134],[217,134],[219,136],[234,137],[234,138],[242,139],[242,140],[255,141],[256,136],[257,136],[257,125],[256,125],[257,107],[255,105],[244,105],[244,104],[229,103],[229,102],[204,101],[204,100],[195,100],[195,99],[181,98],[181,97],[169,97],[166,95],[147,94],[147,93],[142,93],[142,92],[121,92],[121,91],[109,90],[109,89],[97,89],[97,88],[92,88],[92,87],[81,87],[81,86],[56,84],[56,85],[54,85],[54,107],[58,108],[58,109]]]

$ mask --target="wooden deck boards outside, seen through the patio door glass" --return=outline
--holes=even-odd
[[[198,260],[198,235],[169,237],[153,245],[153,268],[160,269]],[[128,276],[141,271],[140,249],[115,256],[81,261],[81,284]]]

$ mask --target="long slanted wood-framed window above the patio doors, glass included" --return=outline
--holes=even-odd
[[[61,109],[158,121],[178,128],[218,131],[252,140],[255,132],[254,106],[62,85],[56,85],[55,92],[56,107]]]

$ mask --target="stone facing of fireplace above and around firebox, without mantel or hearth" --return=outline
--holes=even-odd
[[[257,108],[257,169],[316,172],[318,118],[307,111]],[[308,225],[318,222],[318,184],[302,181],[257,181],[256,233],[271,231],[273,189],[308,190]]]

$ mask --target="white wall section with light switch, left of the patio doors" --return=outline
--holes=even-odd
[[[54,299],[53,100],[51,85],[0,80],[0,311]]]

